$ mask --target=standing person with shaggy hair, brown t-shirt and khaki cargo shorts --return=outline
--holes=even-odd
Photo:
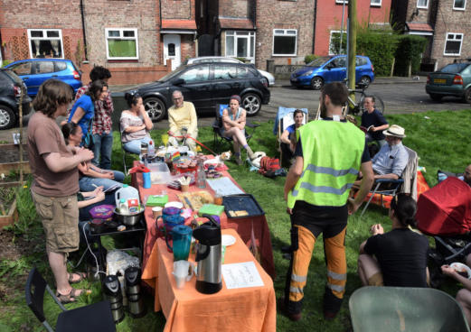
[[[75,301],[83,292],[71,283],[83,279],[82,273],[67,272],[67,255],[79,249],[79,174],[77,165],[90,161],[93,152],[71,151],[65,145],[55,119],[67,115],[71,88],[57,79],[42,83],[33,107],[36,113],[28,124],[28,154],[33,173],[31,194],[36,212],[42,218],[46,252],[62,303]]]

